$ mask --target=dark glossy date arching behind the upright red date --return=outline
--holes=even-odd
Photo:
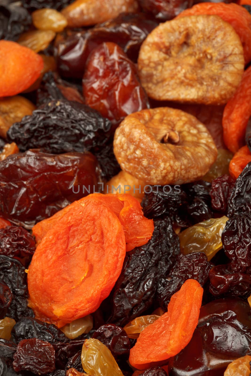
[[[157,25],[143,13],[121,13],[88,31],[73,32],[56,44],[59,73],[64,77],[82,79],[88,56],[103,42],[117,43],[129,59],[137,62],[142,42]]]

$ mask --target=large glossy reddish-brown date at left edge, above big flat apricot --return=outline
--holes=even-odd
[[[87,153],[60,155],[29,150],[0,162],[0,211],[4,218],[31,228],[35,221],[93,192],[100,181],[97,159]]]

